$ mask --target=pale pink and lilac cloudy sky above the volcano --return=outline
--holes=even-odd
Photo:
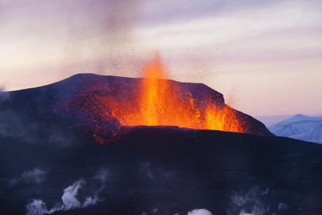
[[[0,0],[0,87],[137,77],[158,52],[253,116],[322,113],[322,2],[258,2]]]

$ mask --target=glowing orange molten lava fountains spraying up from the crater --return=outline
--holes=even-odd
[[[193,129],[246,132],[244,121],[228,105],[218,105],[209,97],[198,100],[174,81],[167,73],[160,57],[146,64],[140,87],[127,99],[105,97],[99,99],[111,109],[121,125],[174,125]]]

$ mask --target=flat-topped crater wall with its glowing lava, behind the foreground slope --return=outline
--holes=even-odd
[[[144,89],[146,85],[148,89]],[[117,136],[120,127],[137,125],[274,135],[260,121],[225,104],[221,93],[202,83],[77,74],[43,87],[3,93],[10,99],[1,103],[2,109],[15,109],[22,118],[58,120],[102,144]]]

